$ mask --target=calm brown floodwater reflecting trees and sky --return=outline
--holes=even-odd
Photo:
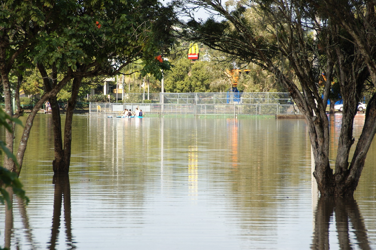
[[[335,142],[341,115],[329,119]],[[51,124],[35,119],[20,176],[30,203],[0,207],[0,246],[376,249],[375,141],[343,202],[319,198],[302,119],[75,115],[65,180],[53,180]]]

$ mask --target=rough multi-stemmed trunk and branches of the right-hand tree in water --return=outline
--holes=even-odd
[[[304,37],[300,27],[291,26],[290,29],[288,31],[291,37],[294,37],[293,34],[299,34],[299,38]],[[308,52],[305,53],[307,47],[304,39],[298,39],[296,44],[286,38],[286,41],[280,42],[279,47],[294,69],[302,90],[297,88],[291,78],[280,71],[279,65],[276,65],[275,62],[269,58],[263,58],[262,61],[269,64],[268,69],[288,89],[299,110],[305,115],[315,158],[315,171],[313,174],[321,195],[352,197],[358,185],[370,143],[375,134],[376,115],[374,115],[374,112],[376,112],[376,106],[373,104],[374,101],[372,101],[375,97],[372,97],[370,105],[367,106],[368,114],[366,115],[365,126],[349,166],[350,149],[355,142],[353,138],[353,121],[369,71],[362,56],[356,53],[354,48],[346,47],[344,40],[338,36],[338,26],[332,25],[330,29],[331,41],[334,41],[334,45],[325,47],[324,51],[336,61],[335,76],[340,82],[341,95],[344,102],[335,171],[332,170],[329,163],[330,137],[326,102],[322,101],[317,89],[314,68],[307,56]],[[285,46],[285,43],[290,45]],[[326,85],[330,86],[330,84],[331,81],[326,82]],[[330,88],[326,89],[330,90]]]

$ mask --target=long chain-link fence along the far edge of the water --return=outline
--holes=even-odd
[[[144,100],[144,94],[127,93],[125,103],[90,103],[89,113],[119,114],[124,109],[138,108],[144,114],[158,115],[299,114],[288,93],[160,93],[148,98],[151,95],[158,103]]]

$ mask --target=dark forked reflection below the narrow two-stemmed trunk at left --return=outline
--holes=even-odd
[[[73,242],[72,228],[71,228],[71,197],[70,197],[70,183],[69,176],[67,174],[59,175],[55,174],[52,180],[55,185],[55,193],[53,198],[53,217],[52,217],[52,229],[51,240],[48,242],[49,249],[56,248],[56,242],[59,236],[60,230],[60,216],[61,205],[64,199],[64,220],[65,220],[65,233],[67,249],[75,249],[76,246]]]

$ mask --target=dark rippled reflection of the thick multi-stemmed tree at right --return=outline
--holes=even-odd
[[[355,248],[371,249],[356,201],[329,197],[320,197],[317,203],[312,249],[330,249],[329,226],[333,216],[340,249],[353,249],[354,245],[357,245]],[[351,241],[350,232],[355,235],[357,243]]]

